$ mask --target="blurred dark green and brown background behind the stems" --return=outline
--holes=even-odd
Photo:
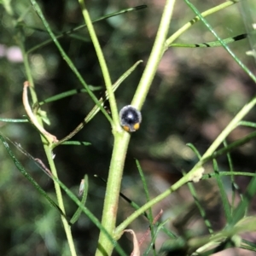
[[[212,8],[224,1],[194,1],[201,11]],[[84,23],[79,3],[74,0],[44,0],[39,2],[51,28],[58,34]],[[16,43],[18,28],[14,19],[20,19],[25,34],[26,49],[49,39],[42,31],[44,26],[35,14],[29,1],[11,1],[13,17],[0,4],[0,97],[1,118],[21,119],[25,114],[21,95],[26,74]],[[154,43],[164,1],[89,1],[87,3],[92,19],[107,15],[120,9],[147,4],[148,8],[119,15],[109,20],[96,23],[95,28],[108,62],[112,81],[136,61],[143,64],[125,80],[116,91],[119,108],[129,104],[148,60]],[[191,20],[195,15],[183,1],[177,1],[172,18],[170,35]],[[238,4],[207,17],[215,31],[222,38],[236,36],[245,32]],[[79,69],[87,84],[102,86],[102,72],[86,29],[74,33],[77,38],[60,39],[61,46]],[[205,26],[198,22],[185,32],[180,43],[204,43],[215,40]],[[241,61],[245,61],[253,70],[252,56],[245,53],[250,49],[247,40],[230,45]],[[29,55],[32,75],[36,84],[39,101],[55,96],[66,90],[82,89],[78,79],[61,58],[55,44],[48,44],[32,51]],[[101,92],[96,92],[101,96]],[[143,106],[141,129],[132,134],[131,144],[126,156],[123,189],[125,195],[139,204],[145,202],[141,180],[138,176],[135,159],[140,163],[148,178],[151,196],[159,195],[179,177],[181,170],[189,171],[195,164],[196,157],[186,143],[193,143],[203,154],[241,109],[255,94],[255,84],[247,77],[235,61],[222,48],[212,49],[169,49],[160,62],[157,75]],[[87,94],[80,93],[58,102],[43,106],[51,121],[46,129],[59,139],[79,125],[85,115],[94,106]],[[256,121],[255,111],[249,113],[247,120]],[[20,143],[33,157],[46,164],[44,149],[38,132],[28,123],[5,123],[0,121],[0,131],[12,141]],[[228,143],[245,136],[248,128],[233,131]],[[113,137],[108,120],[98,113],[96,117],[74,139],[91,143],[88,147],[60,146],[55,148],[55,163],[61,181],[78,194],[79,183],[84,173],[89,175],[90,190],[87,207],[101,218],[105,184],[94,174],[107,178],[108,166],[112,154]],[[32,160],[26,158],[15,147],[16,157],[30,172],[32,177],[55,199],[52,181],[38,169]],[[236,171],[254,172],[256,158],[255,143],[232,152]],[[0,146],[0,254],[1,255],[69,255],[65,233],[62,229],[58,212],[38,195],[38,192],[21,176],[9,155]],[[226,157],[218,160],[221,170],[228,170]],[[207,172],[212,166],[206,166]],[[248,183],[247,177],[238,177],[236,182],[241,190]],[[230,183],[227,179],[227,189]],[[212,220],[215,230],[224,225],[222,209],[218,201],[218,191],[212,180],[201,181],[197,185]],[[76,206],[66,195],[67,215],[72,216]],[[255,206],[255,203],[253,204]],[[170,218],[166,226],[177,234],[191,232],[194,236],[206,233],[198,213],[192,214],[193,221],[186,213],[194,206],[188,188],[179,189],[162,204],[154,207],[154,215],[164,209],[163,219]],[[253,211],[253,207],[252,207]],[[120,200],[119,222],[126,218],[133,209]],[[184,215],[184,217],[183,217]],[[184,219],[183,219],[184,218]],[[138,218],[134,228],[138,236],[148,228],[148,222]],[[84,215],[73,225],[73,235],[79,255],[93,255],[98,238],[98,230]],[[130,237],[121,239],[127,252],[131,250]],[[160,247],[166,236],[159,235],[156,247]]]

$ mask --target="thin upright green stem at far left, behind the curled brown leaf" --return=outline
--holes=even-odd
[[[20,46],[20,49],[21,49],[21,52],[22,52],[22,55],[23,55],[23,61],[24,61],[24,66],[25,66],[25,70],[26,70],[26,76],[27,76],[27,79],[28,79],[29,84],[30,84],[32,102],[33,102],[33,104],[35,104],[36,102],[38,102],[38,97],[37,97],[36,91],[34,90],[32,72],[31,72],[31,68],[29,66],[28,56],[26,55],[26,49],[25,49],[24,44],[23,44],[22,39],[21,39],[22,38],[22,33],[21,32],[19,33],[18,37],[19,36],[20,36],[20,38],[17,38],[18,39],[17,42],[19,43],[19,46]],[[37,119],[38,119],[39,124],[42,125],[42,127],[43,127],[44,124],[43,124],[42,119],[39,116],[37,116]],[[44,136],[42,136],[41,134],[40,134],[40,137],[41,137],[42,143],[44,145],[44,151],[45,151],[45,154],[47,156],[47,160],[49,162],[50,169],[51,169],[52,173],[55,175],[55,177],[58,177],[56,169],[55,169],[55,163],[52,159],[51,145],[46,140],[46,138]],[[56,192],[58,205],[59,205],[61,211],[65,214],[65,207],[64,207],[63,198],[62,198],[62,195],[61,195],[61,187],[58,183],[56,183],[56,182],[54,182],[54,183],[55,183],[55,192]],[[61,221],[62,221],[62,224],[64,226],[64,230],[65,230],[65,233],[66,233],[66,236],[67,236],[67,242],[68,242],[68,245],[69,245],[69,248],[70,248],[70,253],[71,253],[72,256],[76,256],[77,253],[76,253],[76,250],[75,250],[75,247],[74,247],[73,236],[72,236],[72,233],[71,233],[71,230],[70,230],[70,226],[67,223],[67,219],[64,218],[63,216],[61,216]]]

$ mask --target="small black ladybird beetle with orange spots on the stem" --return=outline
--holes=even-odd
[[[137,131],[142,122],[142,114],[136,108],[128,105],[120,110],[119,119],[125,131]]]

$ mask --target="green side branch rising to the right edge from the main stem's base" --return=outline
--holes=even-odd
[[[153,207],[156,203],[166,198],[166,196],[172,194],[173,191],[183,186],[184,183],[191,181],[191,179],[195,177],[196,172],[198,172],[198,170],[201,169],[201,166],[206,162],[206,160],[209,160],[211,158],[211,155],[214,154],[218,146],[221,143],[223,143],[224,139],[230,134],[230,132],[233,131],[237,125],[239,125],[241,119],[243,119],[243,117],[254,107],[255,104],[256,104],[256,96],[254,96],[250,102],[248,102],[243,108],[241,108],[241,111],[236,114],[235,118],[230,121],[230,124],[227,125],[224,131],[222,131],[219,134],[219,136],[212,143],[210,148],[207,149],[207,152],[202,155],[201,160],[199,160],[197,164],[195,164],[195,166],[184,177],[178,180],[177,183],[174,183],[164,193],[158,195],[152,201],[148,201],[148,203],[143,205],[143,207],[138,209],[136,212],[133,212],[128,218],[125,219],[125,221],[122,224],[119,224],[119,226],[116,228],[117,236],[120,236],[122,231],[125,230],[125,228],[129,224],[131,224],[131,222],[134,219],[136,219],[139,215],[143,214],[143,212],[147,211],[149,207]]]

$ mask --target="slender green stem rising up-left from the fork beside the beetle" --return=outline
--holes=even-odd
[[[98,57],[98,60],[99,60],[100,66],[101,66],[102,75],[103,75],[105,85],[106,85],[106,88],[108,91],[108,100],[109,100],[110,109],[111,109],[112,118],[113,118],[112,129],[121,131],[122,128],[119,125],[119,114],[118,114],[115,97],[113,94],[112,82],[111,82],[110,75],[108,72],[108,66],[105,61],[104,55],[102,53],[102,48],[101,48],[101,45],[99,44],[98,38],[96,36],[96,32],[95,32],[92,22],[90,20],[89,12],[85,7],[84,0],[79,0],[79,4],[82,9],[82,13],[84,15],[84,21],[85,21],[85,24],[87,25],[92,44],[96,50],[96,55]]]

